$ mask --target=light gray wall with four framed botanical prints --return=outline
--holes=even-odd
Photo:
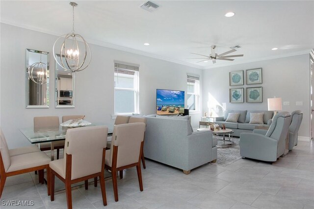
[[[262,68],[262,84],[246,85],[245,70]],[[244,92],[247,87],[262,86],[262,103],[230,103],[229,72],[244,70]],[[229,67],[214,68],[203,72],[203,111],[208,112],[207,102],[216,102],[229,110],[267,110],[267,98],[282,97],[290,106],[282,106],[283,111],[303,111],[303,121],[299,137],[309,138],[310,133],[310,59],[309,54],[246,63]],[[302,101],[303,106],[296,106]],[[225,103],[225,105],[223,105]],[[221,115],[222,113],[220,113]]]

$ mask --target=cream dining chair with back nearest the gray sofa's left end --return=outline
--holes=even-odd
[[[114,200],[118,201],[117,172],[136,166],[140,191],[143,191],[141,153],[145,123],[128,123],[114,126],[110,151],[105,155],[105,169],[111,171]]]

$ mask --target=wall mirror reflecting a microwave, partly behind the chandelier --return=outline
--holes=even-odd
[[[60,54],[56,54],[58,62],[61,63]],[[65,61],[62,56],[63,62]],[[75,107],[75,73],[70,70],[62,69],[57,62],[55,63],[55,108],[74,108]]]

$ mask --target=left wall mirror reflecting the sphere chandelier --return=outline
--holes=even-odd
[[[34,65],[43,63],[41,66]],[[33,79],[38,81],[37,72],[41,67],[47,72],[43,84],[29,78],[28,70],[32,70]],[[26,108],[49,108],[49,52],[26,48]]]

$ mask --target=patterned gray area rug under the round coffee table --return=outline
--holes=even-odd
[[[214,139],[218,139],[218,145],[222,144],[222,136],[213,135]],[[226,139],[229,139],[226,137]],[[241,159],[240,156],[240,147],[239,147],[239,138],[233,138],[234,143],[226,148],[217,149],[217,161],[216,164],[221,166],[227,166],[235,161]]]

